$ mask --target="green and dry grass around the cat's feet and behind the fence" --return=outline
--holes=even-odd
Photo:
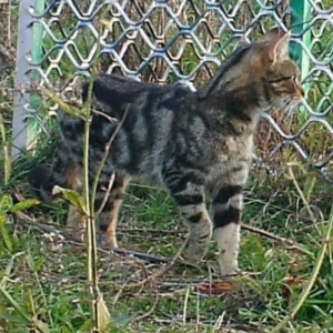
[[[211,20],[215,19],[212,16]],[[200,29],[198,34],[204,34],[206,28]],[[57,33],[60,38],[60,31]],[[329,33],[325,39],[329,43]],[[87,40],[91,42],[91,37]],[[78,49],[85,57],[84,42],[84,36],[80,36]],[[47,49],[51,47],[48,43]],[[190,53],[193,52],[189,47],[181,61],[185,74],[199,61]],[[134,51],[129,60],[133,54]],[[71,72],[71,63],[63,61],[61,70]],[[159,77],[162,69],[157,63],[150,71],[157,71]],[[4,75],[3,82],[10,88],[11,73]],[[50,75],[54,82],[57,75]],[[149,80],[154,78],[149,71],[144,75]],[[195,80],[206,75],[204,71]],[[329,102],[315,108],[324,94],[330,98],[332,93],[330,78],[320,78],[309,94],[309,103],[319,113],[330,107]],[[9,97],[0,95],[0,107],[4,128],[2,151],[10,144]],[[304,123],[304,119],[294,119],[292,125],[281,117],[274,119],[285,132],[292,133]],[[263,121],[256,138],[261,154],[266,157],[280,142],[271,128],[268,134]],[[320,125],[310,129],[301,143],[315,159],[332,151],[331,138]],[[40,161],[50,162],[56,145],[53,132],[43,134],[37,155],[16,161],[8,181],[7,160],[0,155],[0,332],[90,332],[92,327],[87,254],[84,246],[65,233],[65,206],[42,203],[21,208],[18,215],[12,213],[16,202],[3,200],[14,193],[26,200],[31,198],[27,172]],[[243,222],[264,233],[242,232],[240,266],[248,273],[233,287],[214,284],[219,281],[215,242],[198,266],[189,265],[182,258],[172,264],[161,264],[99,251],[99,282],[111,313],[108,332],[333,331],[332,233],[324,241],[332,224],[332,185],[306,165],[301,167],[302,161],[292,149],[284,149],[270,165],[275,173],[268,174],[263,168],[254,167],[249,181]],[[56,230],[63,231],[65,236]],[[125,196],[118,233],[122,248],[170,260],[183,245],[186,229],[165,192],[134,184]],[[324,246],[329,249],[322,256]],[[313,285],[304,299],[309,283]],[[297,305],[300,310],[290,317]],[[284,327],[279,329],[285,319]]]

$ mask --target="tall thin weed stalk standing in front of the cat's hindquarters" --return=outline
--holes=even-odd
[[[108,24],[105,24],[105,16],[109,10],[109,6],[112,6],[111,1],[104,2],[104,8],[101,10],[100,20],[99,20],[99,29],[98,33],[99,37],[102,36],[103,29],[108,29]],[[94,176],[94,181],[92,188],[90,188],[90,176],[89,176],[89,141],[90,141],[90,124],[92,120],[92,88],[93,81],[98,74],[98,60],[99,60],[99,52],[101,51],[101,43],[98,41],[98,48],[92,60],[91,67],[91,75],[89,79],[89,88],[88,88],[88,98],[87,103],[83,110],[80,110],[73,105],[67,104],[60,98],[58,98],[52,91],[46,88],[40,88],[42,94],[48,95],[53,102],[58,103],[59,107],[64,111],[71,114],[72,117],[79,117],[84,121],[84,138],[83,138],[83,178],[84,178],[84,185],[83,185],[83,196],[80,196],[79,193],[67,189],[60,189],[62,195],[72,204],[74,205],[81,213],[84,214],[85,219],[85,241],[87,241],[87,282],[89,285],[89,293],[91,297],[91,316],[93,320],[93,332],[104,332],[107,326],[110,324],[111,316],[107,309],[107,305],[103,301],[103,295],[99,289],[99,276],[98,276],[98,245],[97,245],[97,232],[95,232],[95,212],[94,212],[94,199],[95,199],[95,191],[98,179],[100,173],[104,167],[107,157],[110,151],[110,145],[117,134],[110,138],[109,143],[105,147],[104,157],[101,160],[101,164],[99,165],[98,173]],[[101,114],[100,114],[101,115]],[[111,120],[112,121],[112,120]],[[121,125],[122,121],[120,122]],[[112,186],[112,183],[109,188]],[[57,189],[59,191],[59,188]],[[53,190],[54,192],[54,190]],[[105,194],[108,195],[108,193]]]

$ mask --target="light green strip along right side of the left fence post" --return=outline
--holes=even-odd
[[[44,11],[44,0],[34,0],[34,13],[36,16],[41,16]],[[40,63],[43,57],[42,42],[43,42],[43,27],[41,23],[37,22],[32,27],[33,39],[32,39],[32,63]],[[40,74],[38,71],[33,72],[33,80],[36,82],[40,81]],[[33,110],[40,110],[42,100],[37,94],[30,95],[30,105]],[[38,137],[38,121],[34,119],[29,120],[28,122],[28,150],[33,149],[37,143]]]

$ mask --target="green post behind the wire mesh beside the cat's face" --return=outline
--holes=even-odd
[[[305,27],[309,26],[311,20],[311,6],[307,0],[291,0],[290,6],[292,8],[292,32],[295,34],[302,34],[305,30]],[[311,49],[311,32],[310,30],[302,34],[303,44],[307,50]],[[302,80],[306,77],[310,70],[310,59],[306,52],[303,50],[300,44],[292,44],[291,49],[292,59],[299,64],[302,73]],[[305,84],[305,93],[307,94],[309,85]]]

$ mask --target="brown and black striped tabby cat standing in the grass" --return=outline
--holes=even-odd
[[[242,192],[260,117],[272,108],[289,112],[304,97],[300,71],[289,58],[290,37],[273,29],[260,41],[238,48],[195,92],[114,74],[94,79],[93,109],[98,112],[90,125],[91,183],[127,112],[100,174],[94,202],[95,211],[104,203],[97,225],[111,246],[118,246],[117,216],[125,189],[131,180],[143,180],[164,186],[188,222],[189,260],[203,259],[214,233],[221,275],[239,272]],[[83,102],[87,95],[84,83]],[[82,186],[84,123],[62,111],[58,115],[61,139],[53,168],[39,165],[29,173],[31,188],[47,201],[53,199],[56,184],[79,191]],[[114,181],[107,191],[112,174]],[[205,195],[212,201],[213,223]],[[84,228],[84,219],[73,206],[68,224]]]

